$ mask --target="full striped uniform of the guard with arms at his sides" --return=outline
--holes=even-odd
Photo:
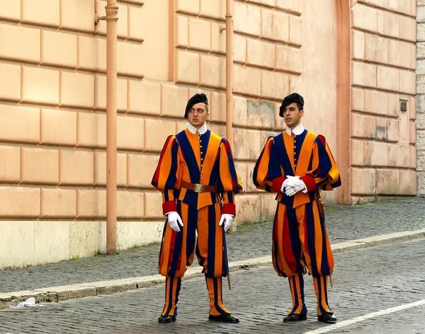
[[[195,192],[183,188],[182,182],[215,186],[216,192]],[[177,314],[181,277],[193,263],[195,246],[207,282],[210,314],[229,313],[222,305],[222,277],[227,276],[228,264],[224,225],[219,222],[222,214],[236,215],[234,195],[242,190],[229,142],[210,130],[200,136],[188,129],[169,136],[152,185],[162,192],[164,214],[176,211],[183,221],[180,232],[172,230],[167,221],[164,225],[159,252],[159,273],[166,277],[162,316]]]

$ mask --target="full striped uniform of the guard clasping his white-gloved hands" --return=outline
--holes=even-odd
[[[307,192],[285,196],[280,192],[286,175],[300,176]],[[273,223],[272,258],[278,275],[289,277],[293,309],[305,314],[304,275],[309,270],[317,294],[317,314],[332,313],[327,301],[327,276],[334,269],[320,190],[341,185],[334,157],[322,135],[304,131],[293,137],[287,132],[269,137],[254,168],[256,188],[277,192]]]

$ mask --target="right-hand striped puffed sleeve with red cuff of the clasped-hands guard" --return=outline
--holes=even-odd
[[[334,156],[322,134],[319,134],[314,142],[311,166],[311,170],[301,178],[307,192],[317,188],[333,190],[341,185],[341,177]]]

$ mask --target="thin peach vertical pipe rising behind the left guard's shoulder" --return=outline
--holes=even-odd
[[[226,0],[226,138],[233,146],[233,0]]]

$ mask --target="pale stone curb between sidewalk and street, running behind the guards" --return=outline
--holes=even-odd
[[[331,245],[334,253],[344,253],[350,250],[369,248],[374,246],[390,245],[414,239],[425,238],[425,229],[416,231],[404,231],[394,234],[384,234],[381,236],[372,236],[370,238],[361,238],[343,243]],[[249,260],[234,261],[229,263],[229,271],[244,270],[262,265],[271,265],[271,255]],[[200,267],[188,268],[183,280],[190,280],[196,277],[203,277]],[[113,294],[115,292],[124,292],[128,290],[141,289],[143,287],[152,287],[154,285],[164,284],[165,277],[162,275],[131,277],[122,280],[111,280],[101,282],[91,282],[82,284],[64,285],[61,287],[48,287],[43,289],[34,289],[18,292],[8,292],[0,294],[0,308],[8,305],[18,304],[30,297],[35,297],[38,303],[50,301],[64,301],[67,299],[81,298],[86,296],[97,296],[100,294]]]

